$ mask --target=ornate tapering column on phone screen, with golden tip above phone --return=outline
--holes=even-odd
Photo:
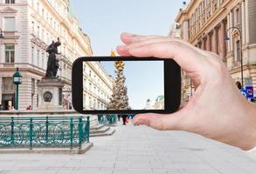
[[[114,51],[112,51],[111,56],[115,56]],[[127,95],[128,88],[125,85],[126,78],[123,74],[125,64],[123,61],[114,61],[114,67],[116,77],[114,81],[113,94],[109,104],[107,105],[107,110],[130,110]]]

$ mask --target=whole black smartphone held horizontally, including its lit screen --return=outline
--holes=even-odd
[[[80,57],[72,96],[81,114],[172,113],[180,106],[181,69],[156,57]]]

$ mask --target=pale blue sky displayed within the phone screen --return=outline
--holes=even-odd
[[[114,62],[100,63],[115,79]],[[164,95],[163,61],[126,61],[124,63],[129,105],[133,110],[144,108],[147,99],[155,101],[156,97]]]

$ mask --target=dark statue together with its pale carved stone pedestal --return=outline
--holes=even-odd
[[[38,110],[63,110],[62,88],[65,84],[57,77],[59,60],[56,57],[60,45],[58,38],[57,42],[52,41],[46,49],[49,57],[45,77],[38,83]]]

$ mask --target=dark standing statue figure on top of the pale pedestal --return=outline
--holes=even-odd
[[[58,69],[59,69],[59,60],[56,59],[56,54],[58,53],[58,47],[61,45],[58,41],[52,43],[47,47],[46,52],[49,53],[48,62],[47,62],[47,70],[45,77],[56,77]]]

